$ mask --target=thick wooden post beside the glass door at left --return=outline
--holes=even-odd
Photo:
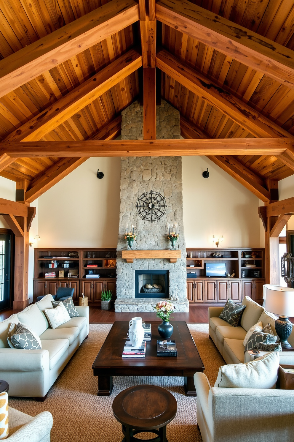
[[[21,195],[26,192],[29,182],[16,182],[16,195],[19,202]],[[23,191],[23,192],[22,192]],[[22,310],[29,304],[29,232],[27,232],[27,217],[16,217],[24,236],[15,236],[15,276],[13,309]]]

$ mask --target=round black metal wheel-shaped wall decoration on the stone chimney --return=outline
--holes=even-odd
[[[138,214],[143,220],[158,221],[164,215],[167,205],[159,192],[145,192],[137,199]]]

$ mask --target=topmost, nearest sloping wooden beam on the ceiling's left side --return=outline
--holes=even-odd
[[[112,0],[0,61],[0,96],[138,21],[134,0]]]

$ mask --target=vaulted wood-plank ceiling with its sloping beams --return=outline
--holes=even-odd
[[[0,25],[0,175],[24,188],[26,202],[89,150],[25,156],[17,143],[113,140],[121,111],[143,95],[145,137],[154,138],[155,66],[182,136],[222,139],[223,151],[209,158],[264,202],[294,174],[294,1],[5,0]],[[279,138],[283,148],[285,137],[287,148],[268,149],[275,154],[250,155],[240,140],[240,154],[234,143],[228,155],[223,142]]]

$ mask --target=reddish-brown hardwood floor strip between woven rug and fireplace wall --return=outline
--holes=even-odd
[[[189,313],[173,313],[174,320],[192,322],[208,322],[207,306],[190,305]],[[0,320],[4,320],[13,313],[18,313],[20,310],[5,309],[0,312]],[[101,307],[90,306],[89,323],[90,324],[112,324],[114,321],[127,321],[134,316],[141,316],[144,321],[160,321],[156,318],[155,313],[115,313],[114,308],[111,310],[101,310]]]

